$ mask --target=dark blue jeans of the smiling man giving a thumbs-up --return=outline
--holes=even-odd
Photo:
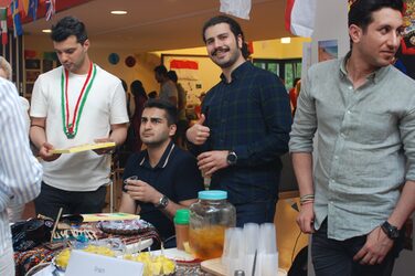
[[[236,204],[236,226],[243,227],[245,223],[274,223],[277,200]]]

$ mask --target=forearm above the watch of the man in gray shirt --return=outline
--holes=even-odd
[[[397,229],[402,229],[405,221],[415,210],[415,181],[408,180],[406,181],[401,198],[397,201],[396,208],[392,212],[391,216],[387,221],[396,226]]]

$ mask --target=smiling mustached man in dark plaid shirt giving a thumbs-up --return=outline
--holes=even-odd
[[[235,20],[214,17],[202,35],[222,75],[187,131],[189,147],[203,174],[212,176],[210,189],[227,191],[237,226],[273,223],[291,126],[288,93],[275,74],[246,61],[249,52]]]

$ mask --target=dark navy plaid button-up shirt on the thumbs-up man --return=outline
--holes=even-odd
[[[287,91],[249,62],[232,72],[231,83],[221,78],[203,100],[211,136],[199,151],[235,151],[237,162],[214,173],[211,188],[226,190],[234,204],[276,199],[291,127]]]

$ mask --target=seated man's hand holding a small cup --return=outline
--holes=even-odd
[[[159,191],[141,180],[127,180],[125,188],[131,199],[139,200],[141,202],[157,204],[162,197]]]

